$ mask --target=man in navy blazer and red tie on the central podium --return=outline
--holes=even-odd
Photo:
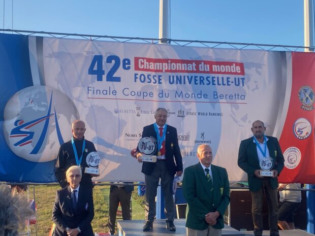
[[[142,173],[145,175],[145,219],[146,223],[143,226],[143,231],[148,231],[153,228],[153,221],[155,218],[155,197],[157,186],[161,178],[161,187],[164,193],[165,210],[166,210],[166,227],[170,231],[175,231],[176,227],[173,223],[175,205],[172,194],[172,182],[174,175],[181,176],[182,157],[178,145],[178,136],[176,128],[167,125],[168,112],[164,108],[157,108],[155,111],[155,123],[145,126],[142,131],[142,138],[153,137],[157,141],[160,140],[161,147],[157,145],[156,162],[143,162]],[[159,143],[159,142],[157,142]],[[137,159],[142,162],[142,153],[137,148]]]

